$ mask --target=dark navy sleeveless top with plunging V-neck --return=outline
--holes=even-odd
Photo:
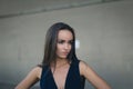
[[[79,70],[80,60],[73,60],[68,71],[64,89],[84,89],[85,78],[80,76]],[[42,68],[42,75],[40,79],[41,89],[58,89],[53,79],[51,69],[49,67]]]

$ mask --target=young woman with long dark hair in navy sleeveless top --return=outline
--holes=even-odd
[[[76,58],[74,30],[58,22],[47,32],[42,65],[33,68],[16,89],[29,89],[37,81],[41,89],[84,89],[85,79],[96,89],[111,89],[90,66]]]

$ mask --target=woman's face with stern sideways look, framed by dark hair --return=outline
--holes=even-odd
[[[57,58],[65,59],[72,48],[73,36],[69,30],[60,30],[57,42]]]

